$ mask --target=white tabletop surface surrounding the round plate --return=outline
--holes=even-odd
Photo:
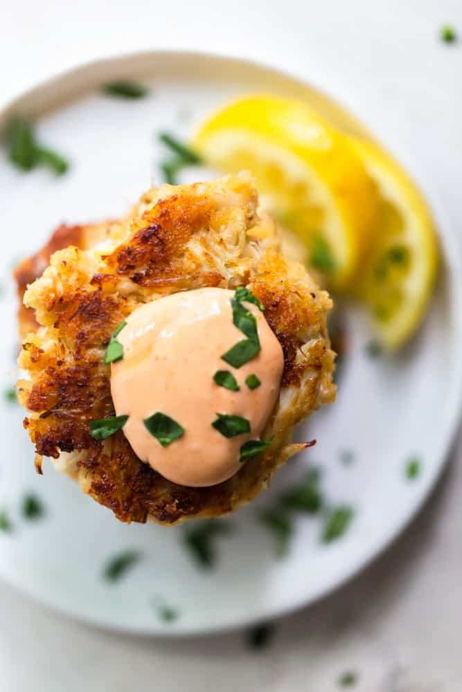
[[[323,86],[434,176],[462,224],[462,44],[438,42],[460,0],[0,2],[0,105],[66,66],[133,48],[202,48],[280,64]],[[112,635],[0,589],[1,692],[462,690],[462,439],[427,507],[337,594],[278,624],[264,653],[242,633]],[[390,503],[393,498],[390,498]]]

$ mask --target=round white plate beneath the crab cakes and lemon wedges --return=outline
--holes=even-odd
[[[124,75],[148,84],[150,96],[123,101],[98,92],[103,82]],[[37,118],[40,136],[66,152],[72,167],[59,179],[42,170],[21,174],[0,156],[5,387],[15,381],[16,302],[10,281],[15,260],[35,251],[61,221],[94,221],[125,212],[160,181],[157,131],[187,136],[211,107],[252,91],[308,98],[321,111],[332,105],[309,86],[263,66],[181,53],[83,66],[10,105],[9,113]],[[339,113],[337,125],[360,128]],[[0,116],[3,122],[6,116]],[[421,179],[420,171],[413,172]],[[398,358],[371,360],[364,352],[371,338],[364,316],[346,312],[350,344],[337,403],[313,415],[300,431],[315,435],[317,446],[283,469],[268,493],[231,518],[235,530],[220,538],[215,570],[203,572],[190,560],[181,545],[182,527],[123,525],[48,462],[38,477],[22,412],[2,403],[0,508],[8,509],[14,523],[11,534],[0,533],[3,579],[91,623],[171,635],[224,630],[283,614],[318,599],[376,556],[432,488],[461,402],[459,248],[434,191],[425,192],[441,232],[445,266],[423,329]],[[344,450],[353,450],[353,464],[341,463]],[[422,473],[413,482],[405,478],[411,455],[422,461]],[[322,467],[329,502],[353,505],[355,519],[341,539],[324,545],[321,518],[300,518],[287,558],[277,560],[272,536],[256,521],[256,509],[271,504],[274,493],[309,463]],[[46,505],[42,521],[21,518],[25,491],[37,493]],[[132,547],[141,550],[143,560],[125,579],[108,585],[101,577],[103,564]],[[177,608],[176,621],[157,617],[157,598]]]

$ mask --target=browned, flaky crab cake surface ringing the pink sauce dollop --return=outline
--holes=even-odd
[[[152,190],[99,246],[55,253],[26,291],[24,302],[43,325],[28,334],[19,357],[30,374],[30,381],[19,383],[20,399],[29,411],[24,426],[37,464],[42,455],[60,459],[57,464],[64,463],[82,489],[122,521],[172,524],[220,516],[251,500],[301,448],[290,444],[294,424],[335,397],[326,331],[330,299],[301,265],[278,254],[275,237],[249,240],[247,232],[259,223],[256,206],[245,174]],[[30,262],[29,276],[36,266]],[[139,304],[161,295],[242,284],[265,305],[285,357],[281,397],[265,430],[265,439],[274,437],[272,446],[230,480],[189,488],[141,462],[123,432],[104,442],[93,439],[89,421],[114,415],[103,359],[116,326]]]

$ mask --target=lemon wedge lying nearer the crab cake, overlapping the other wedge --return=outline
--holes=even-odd
[[[219,170],[250,170],[263,206],[303,240],[308,262],[335,289],[348,285],[374,232],[377,194],[344,136],[303,102],[256,95],[214,113],[193,147]]]

